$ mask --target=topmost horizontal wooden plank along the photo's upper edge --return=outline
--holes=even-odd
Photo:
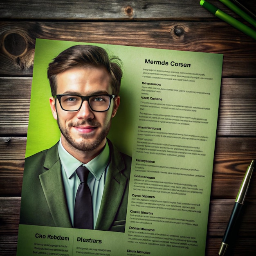
[[[12,19],[65,19],[65,20],[112,20],[112,19],[198,19],[213,18],[199,4],[200,1],[175,0],[137,0],[132,2],[106,0],[1,0],[0,18]],[[223,11],[237,17],[225,5],[217,0],[211,0]],[[246,5],[255,10],[253,0],[247,0]]]

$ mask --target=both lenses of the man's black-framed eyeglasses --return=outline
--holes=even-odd
[[[88,100],[90,107],[95,111],[106,111],[110,106],[110,96],[95,95]],[[61,97],[61,106],[67,111],[79,110],[82,105],[82,97],[76,95],[63,95]]]

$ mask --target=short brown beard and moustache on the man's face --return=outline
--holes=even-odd
[[[59,119],[57,121],[58,121],[58,127],[60,128],[61,133],[62,133],[63,137],[66,139],[66,141],[73,148],[76,148],[76,149],[81,150],[81,151],[92,151],[92,150],[96,149],[101,144],[101,142],[107,137],[108,132],[110,130],[110,126],[111,126],[111,119],[110,119],[110,121],[108,122],[107,126],[105,126],[103,128],[103,130],[101,131],[99,136],[94,141],[88,142],[87,139],[88,139],[89,136],[86,135],[86,134],[83,134],[83,135],[80,135],[83,138],[83,140],[80,141],[80,142],[76,142],[72,138],[72,135],[70,135],[70,130],[69,129],[72,126],[79,126],[79,125],[87,124],[88,126],[97,126],[97,127],[99,127],[100,124],[98,122],[87,120],[87,121],[83,121],[81,123],[76,123],[76,124],[70,123],[70,124],[68,124],[68,128],[66,128],[65,126],[62,126],[62,124],[59,121]]]

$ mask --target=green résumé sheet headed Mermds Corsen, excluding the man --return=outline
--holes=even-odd
[[[203,256],[223,55],[37,39],[26,157],[60,138],[47,67],[78,44],[123,63],[108,138],[132,157],[125,232],[20,224],[17,255]]]

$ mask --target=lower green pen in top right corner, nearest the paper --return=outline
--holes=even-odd
[[[216,6],[214,6],[213,4],[210,4],[209,2],[207,2],[205,0],[200,0],[200,5],[202,5],[202,7],[204,7],[211,13],[213,13],[216,17],[220,18],[221,20],[224,20],[229,25],[235,27],[236,29],[247,34],[247,36],[250,36],[254,40],[256,40],[256,31],[255,30],[251,29],[250,27],[246,26],[245,24],[236,20],[235,18],[229,16],[227,13],[225,13],[224,11],[221,11]]]

